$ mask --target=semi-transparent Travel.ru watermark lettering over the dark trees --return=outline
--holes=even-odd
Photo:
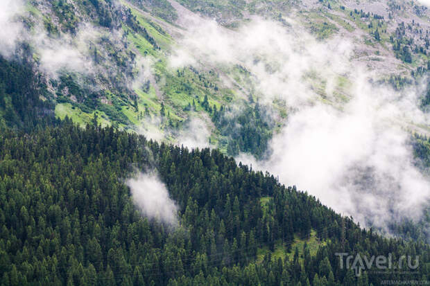
[[[420,265],[419,256],[415,256],[414,260],[412,256],[400,256],[397,264],[393,264],[391,253],[388,256],[372,256],[370,258],[362,256],[360,253],[355,256],[349,255],[347,252],[336,252],[334,254],[339,257],[341,269],[353,269],[357,277],[361,276],[361,271],[372,269],[374,266],[379,270],[393,271],[395,269],[415,270]]]

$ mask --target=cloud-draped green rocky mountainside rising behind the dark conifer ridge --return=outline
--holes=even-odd
[[[0,45],[13,75],[1,79],[1,125],[29,132],[57,124],[55,114],[218,148],[368,228],[429,240],[424,6],[17,3],[6,22],[18,31],[13,53]]]

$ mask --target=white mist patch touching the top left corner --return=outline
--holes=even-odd
[[[55,75],[61,69],[88,72],[91,60],[87,58],[88,42],[96,36],[96,30],[89,24],[82,24],[75,36],[63,34],[49,37],[41,19],[35,18],[31,30],[24,27],[23,19],[30,15],[22,0],[0,1],[0,53],[12,56],[19,42],[28,42],[39,57],[42,71]]]

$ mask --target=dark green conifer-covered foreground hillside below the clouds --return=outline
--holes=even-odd
[[[339,267],[336,252],[392,253],[393,261],[419,255],[420,267],[407,277],[429,279],[428,244],[360,229],[216,150],[160,145],[112,127],[80,129],[69,120],[31,134],[2,128],[0,145],[1,285],[379,285],[404,278],[357,280]],[[159,172],[179,206],[177,228],[149,221],[134,206],[123,179],[136,168]],[[313,253],[306,243],[292,249],[313,232]],[[279,245],[284,259],[273,257]]]

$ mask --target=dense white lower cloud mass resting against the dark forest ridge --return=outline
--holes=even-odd
[[[413,104],[416,93],[364,79],[354,85],[342,111],[320,103],[291,113],[270,142],[267,161],[243,155],[238,161],[279,175],[364,226],[418,220],[430,202],[430,182],[416,168],[411,134],[401,124],[426,122]]]

